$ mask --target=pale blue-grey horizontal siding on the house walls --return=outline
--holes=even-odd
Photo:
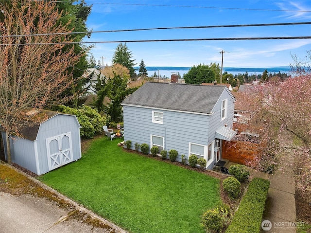
[[[224,99],[227,99],[227,115],[221,121],[221,102]],[[135,106],[134,102],[127,103],[127,101],[124,101],[124,141],[132,141],[133,147],[135,143],[147,143],[151,146],[151,134],[164,137],[164,149],[168,151],[171,149],[177,150],[178,156],[176,160],[181,161],[182,154],[185,154],[187,157],[189,155],[189,143],[198,143],[207,146],[215,141],[216,130],[222,125],[232,128],[234,114],[233,101],[234,98],[231,93],[225,89],[219,96],[219,99],[216,99],[216,104],[212,108],[211,114],[181,112],[169,109],[158,110],[151,107]],[[198,103],[195,104],[198,105]],[[203,101],[202,103],[205,102]],[[206,103],[208,104],[208,100]],[[202,105],[202,108],[205,109],[207,106]],[[163,124],[152,123],[153,110],[163,112]],[[212,149],[214,150],[214,148]],[[213,164],[209,163],[208,168],[212,168],[212,166]]]

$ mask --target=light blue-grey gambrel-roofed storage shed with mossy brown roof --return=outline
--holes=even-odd
[[[41,175],[81,158],[81,126],[75,115],[43,109],[25,114],[37,123],[22,127],[20,137],[10,137],[12,162]],[[7,160],[6,140],[3,144]]]

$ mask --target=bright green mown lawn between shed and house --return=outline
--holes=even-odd
[[[202,214],[219,203],[219,180],[129,153],[106,137],[78,161],[40,180],[131,233],[204,233]]]

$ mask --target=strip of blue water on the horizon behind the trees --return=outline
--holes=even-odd
[[[168,77],[171,78],[171,75],[174,73],[179,73],[181,76],[184,75],[184,73],[187,73],[190,70],[191,67],[146,67],[148,76],[153,76],[154,73],[156,75],[160,74],[161,77]],[[136,73],[138,73],[139,67],[135,67]],[[291,71],[290,67],[273,67],[273,68],[235,68],[235,67],[225,67],[223,68],[223,72],[232,73],[233,75],[239,74],[239,73],[245,73],[247,72],[248,75],[252,74],[262,74],[265,70],[268,71],[268,73],[289,73]]]

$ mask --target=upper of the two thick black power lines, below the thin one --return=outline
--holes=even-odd
[[[52,36],[69,34],[92,34],[92,33],[115,33],[115,32],[134,32],[148,30],[167,30],[167,29],[202,29],[202,28],[228,28],[228,27],[259,27],[259,26],[286,26],[286,25],[304,25],[311,22],[291,22],[291,23],[258,23],[258,24],[233,24],[233,25],[207,25],[207,26],[188,26],[188,27],[159,27],[159,28],[141,28],[141,29],[123,29],[106,31],[87,31],[87,32],[65,32],[65,33],[47,33],[47,34],[26,34],[26,35],[7,35],[0,37],[20,37],[20,36]]]

